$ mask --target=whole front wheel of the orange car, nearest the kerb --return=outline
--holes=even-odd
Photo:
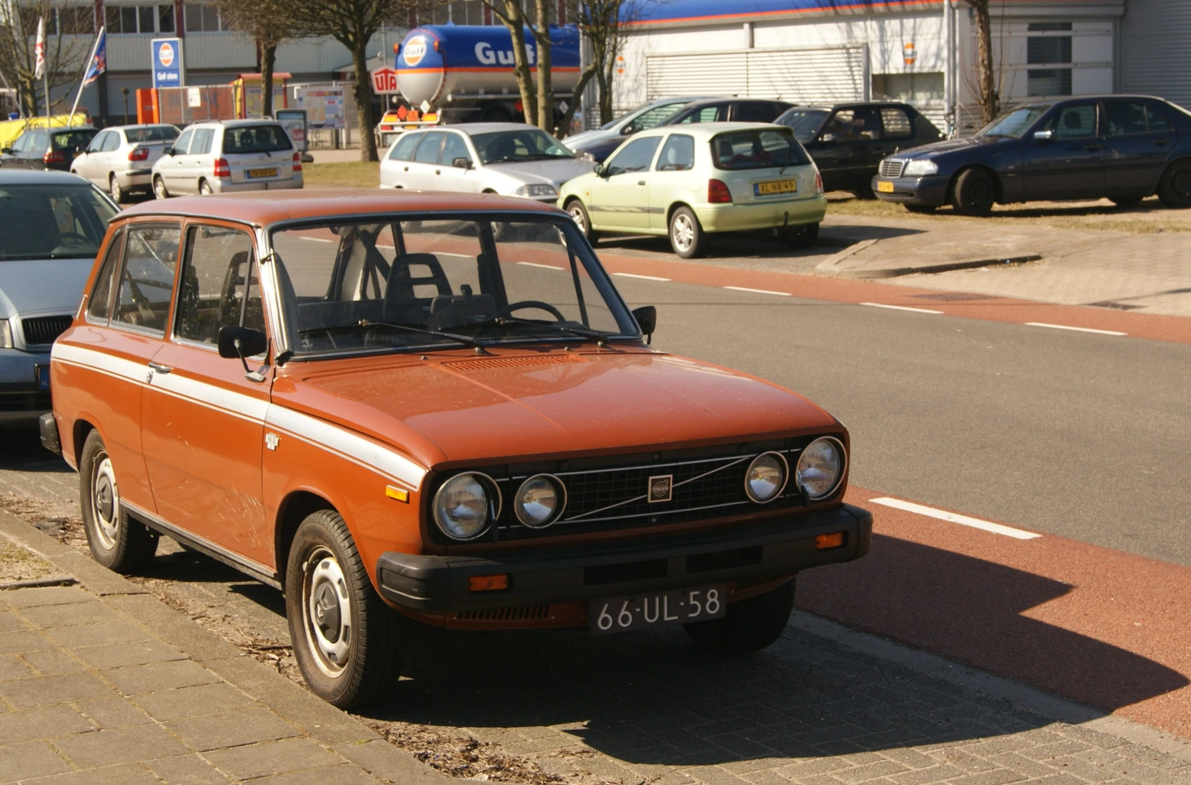
[[[400,628],[413,622],[373,588],[338,512],[301,522],[285,582],[289,640],[311,692],[339,709],[384,698],[400,675]]]

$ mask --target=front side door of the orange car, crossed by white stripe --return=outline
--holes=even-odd
[[[154,357],[141,432],[157,515],[258,565],[273,561],[261,499],[269,375],[220,357],[220,328],[264,331],[252,237],[189,223],[168,339]],[[263,357],[251,362],[254,369]],[[268,569],[266,569],[268,572]]]

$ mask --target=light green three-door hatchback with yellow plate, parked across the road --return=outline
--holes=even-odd
[[[818,236],[823,180],[784,125],[700,123],[643,131],[596,172],[566,182],[559,206],[596,243],[601,232],[668,235],[701,256],[716,232],[777,231],[791,247]]]

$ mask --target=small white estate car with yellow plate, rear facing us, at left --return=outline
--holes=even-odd
[[[152,167],[152,192],[158,199],[301,187],[301,156],[276,120],[188,125]]]

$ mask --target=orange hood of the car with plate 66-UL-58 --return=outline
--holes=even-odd
[[[774,384],[651,350],[401,355],[306,373],[299,365],[312,363],[279,376],[274,401],[388,442],[428,467],[843,430]]]

